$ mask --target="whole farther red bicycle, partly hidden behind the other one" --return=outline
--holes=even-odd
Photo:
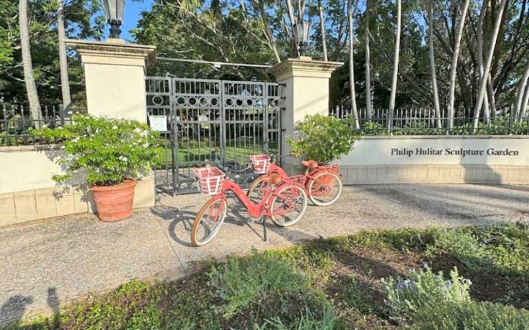
[[[338,165],[320,165],[315,160],[304,160],[302,164],[307,168],[304,175],[289,177],[275,162],[271,162],[267,173],[280,175],[283,181],[295,182],[305,189],[309,199],[317,206],[329,206],[342,195],[342,178],[338,174]],[[248,189],[247,196],[258,200],[262,190],[267,186],[264,176],[255,179]]]

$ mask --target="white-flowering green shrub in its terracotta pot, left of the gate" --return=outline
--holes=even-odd
[[[56,162],[65,174],[54,175],[54,181],[87,186],[102,221],[132,215],[136,183],[160,158],[158,148],[152,147],[157,133],[133,120],[74,115],[72,124],[32,133],[63,149]]]

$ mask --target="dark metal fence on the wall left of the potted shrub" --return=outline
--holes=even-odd
[[[56,128],[70,122],[62,104],[41,107],[39,116],[32,118],[29,107],[3,105],[0,109],[0,146],[36,144],[40,141],[29,133],[30,129]]]

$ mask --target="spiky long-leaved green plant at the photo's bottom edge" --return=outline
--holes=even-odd
[[[318,320],[313,316],[309,309],[306,309],[301,314],[298,320],[292,322],[291,325],[284,325],[281,318],[273,318],[272,320],[266,320],[262,327],[256,327],[256,330],[333,330],[335,329],[336,316],[332,307],[327,307],[323,311],[322,319]]]

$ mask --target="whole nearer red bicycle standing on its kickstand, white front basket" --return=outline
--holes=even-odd
[[[300,221],[307,210],[307,193],[304,188],[296,182],[282,180],[276,173],[261,177],[266,187],[262,189],[262,197],[256,202],[251,201],[236,182],[216,167],[196,168],[194,173],[200,190],[213,196],[196,214],[191,228],[191,243],[194,246],[205,245],[220,230],[227,212],[227,191],[234,192],[247,208],[250,217],[262,219],[264,241],[267,240],[265,217],[269,217],[276,225],[287,227]]]

